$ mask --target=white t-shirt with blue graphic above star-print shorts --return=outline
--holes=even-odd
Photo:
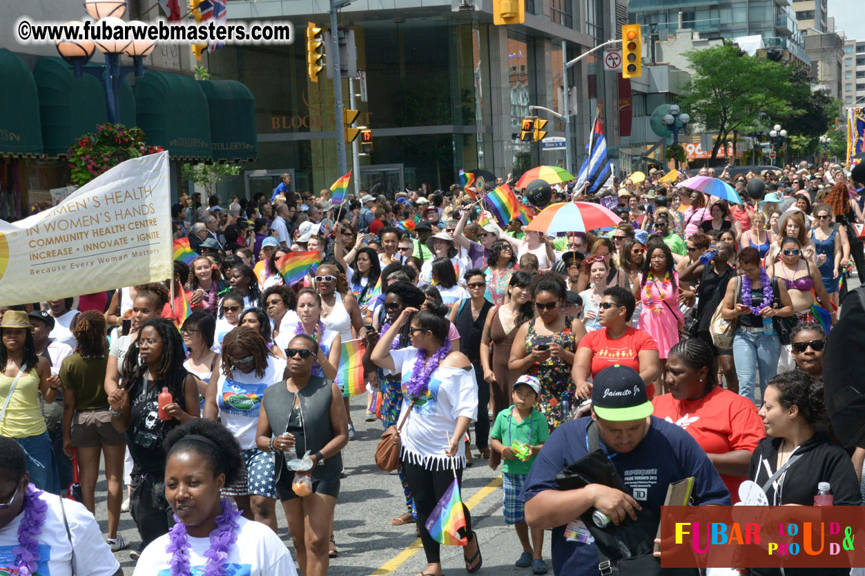
[[[220,373],[216,388],[216,406],[222,426],[234,434],[240,443],[240,450],[250,450],[255,447],[255,429],[259,424],[261,398],[267,387],[282,380],[285,372],[285,360],[268,356],[267,369],[264,376],[248,374],[234,369],[232,378]]]

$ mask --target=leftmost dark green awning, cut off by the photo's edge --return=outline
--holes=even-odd
[[[39,97],[21,58],[0,48],[0,156],[42,156]]]

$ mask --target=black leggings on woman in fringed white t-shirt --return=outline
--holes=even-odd
[[[420,541],[424,545],[424,554],[426,554],[426,562],[429,564],[439,564],[439,548],[441,544],[432,540],[432,536],[426,530],[426,519],[432,514],[432,509],[439,503],[442,496],[445,496],[448,486],[453,482],[453,470],[450,467],[439,470],[426,470],[426,468],[412,464],[407,459],[402,460],[402,470],[406,473],[408,488],[412,490],[414,497],[414,508],[418,512],[418,529],[420,530]],[[463,483],[463,469],[457,469],[457,477],[459,484]],[[462,494],[460,494],[462,496]],[[471,515],[469,509],[463,504],[465,513],[465,532],[459,531],[458,535],[468,537],[471,535]]]

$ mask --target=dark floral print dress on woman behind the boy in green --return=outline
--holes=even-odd
[[[526,333],[526,353],[530,353],[538,344],[549,344],[555,342],[563,349],[576,352],[573,342],[572,317],[565,317],[565,328],[560,333],[552,336],[540,336],[535,330],[537,319],[529,323],[529,331]],[[536,362],[529,368],[529,375],[535,376],[541,381],[541,394],[535,407],[547,418],[549,432],[553,432],[562,422],[567,414],[561,413],[561,396],[568,392],[573,399],[576,385],[571,376],[571,367],[561,358],[550,356],[543,362]],[[573,401],[573,400],[572,400]]]

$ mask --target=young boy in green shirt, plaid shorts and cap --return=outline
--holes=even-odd
[[[527,256],[533,255],[527,254]],[[543,529],[532,528],[532,541],[529,544],[529,525],[526,524],[524,505],[519,499],[522,483],[526,481],[526,476],[538,452],[541,451],[541,446],[549,438],[546,419],[534,407],[540,393],[541,382],[534,376],[524,374],[514,382],[511,390],[514,406],[498,413],[490,434],[490,447],[502,454],[504,462],[502,467],[504,522],[514,526],[522,544],[522,554],[520,559],[516,560],[516,566],[521,568],[532,566],[532,573],[546,574],[547,564],[541,558]],[[529,449],[525,458],[522,458],[514,448],[517,441]],[[517,445],[517,450],[520,448],[522,447]]]

